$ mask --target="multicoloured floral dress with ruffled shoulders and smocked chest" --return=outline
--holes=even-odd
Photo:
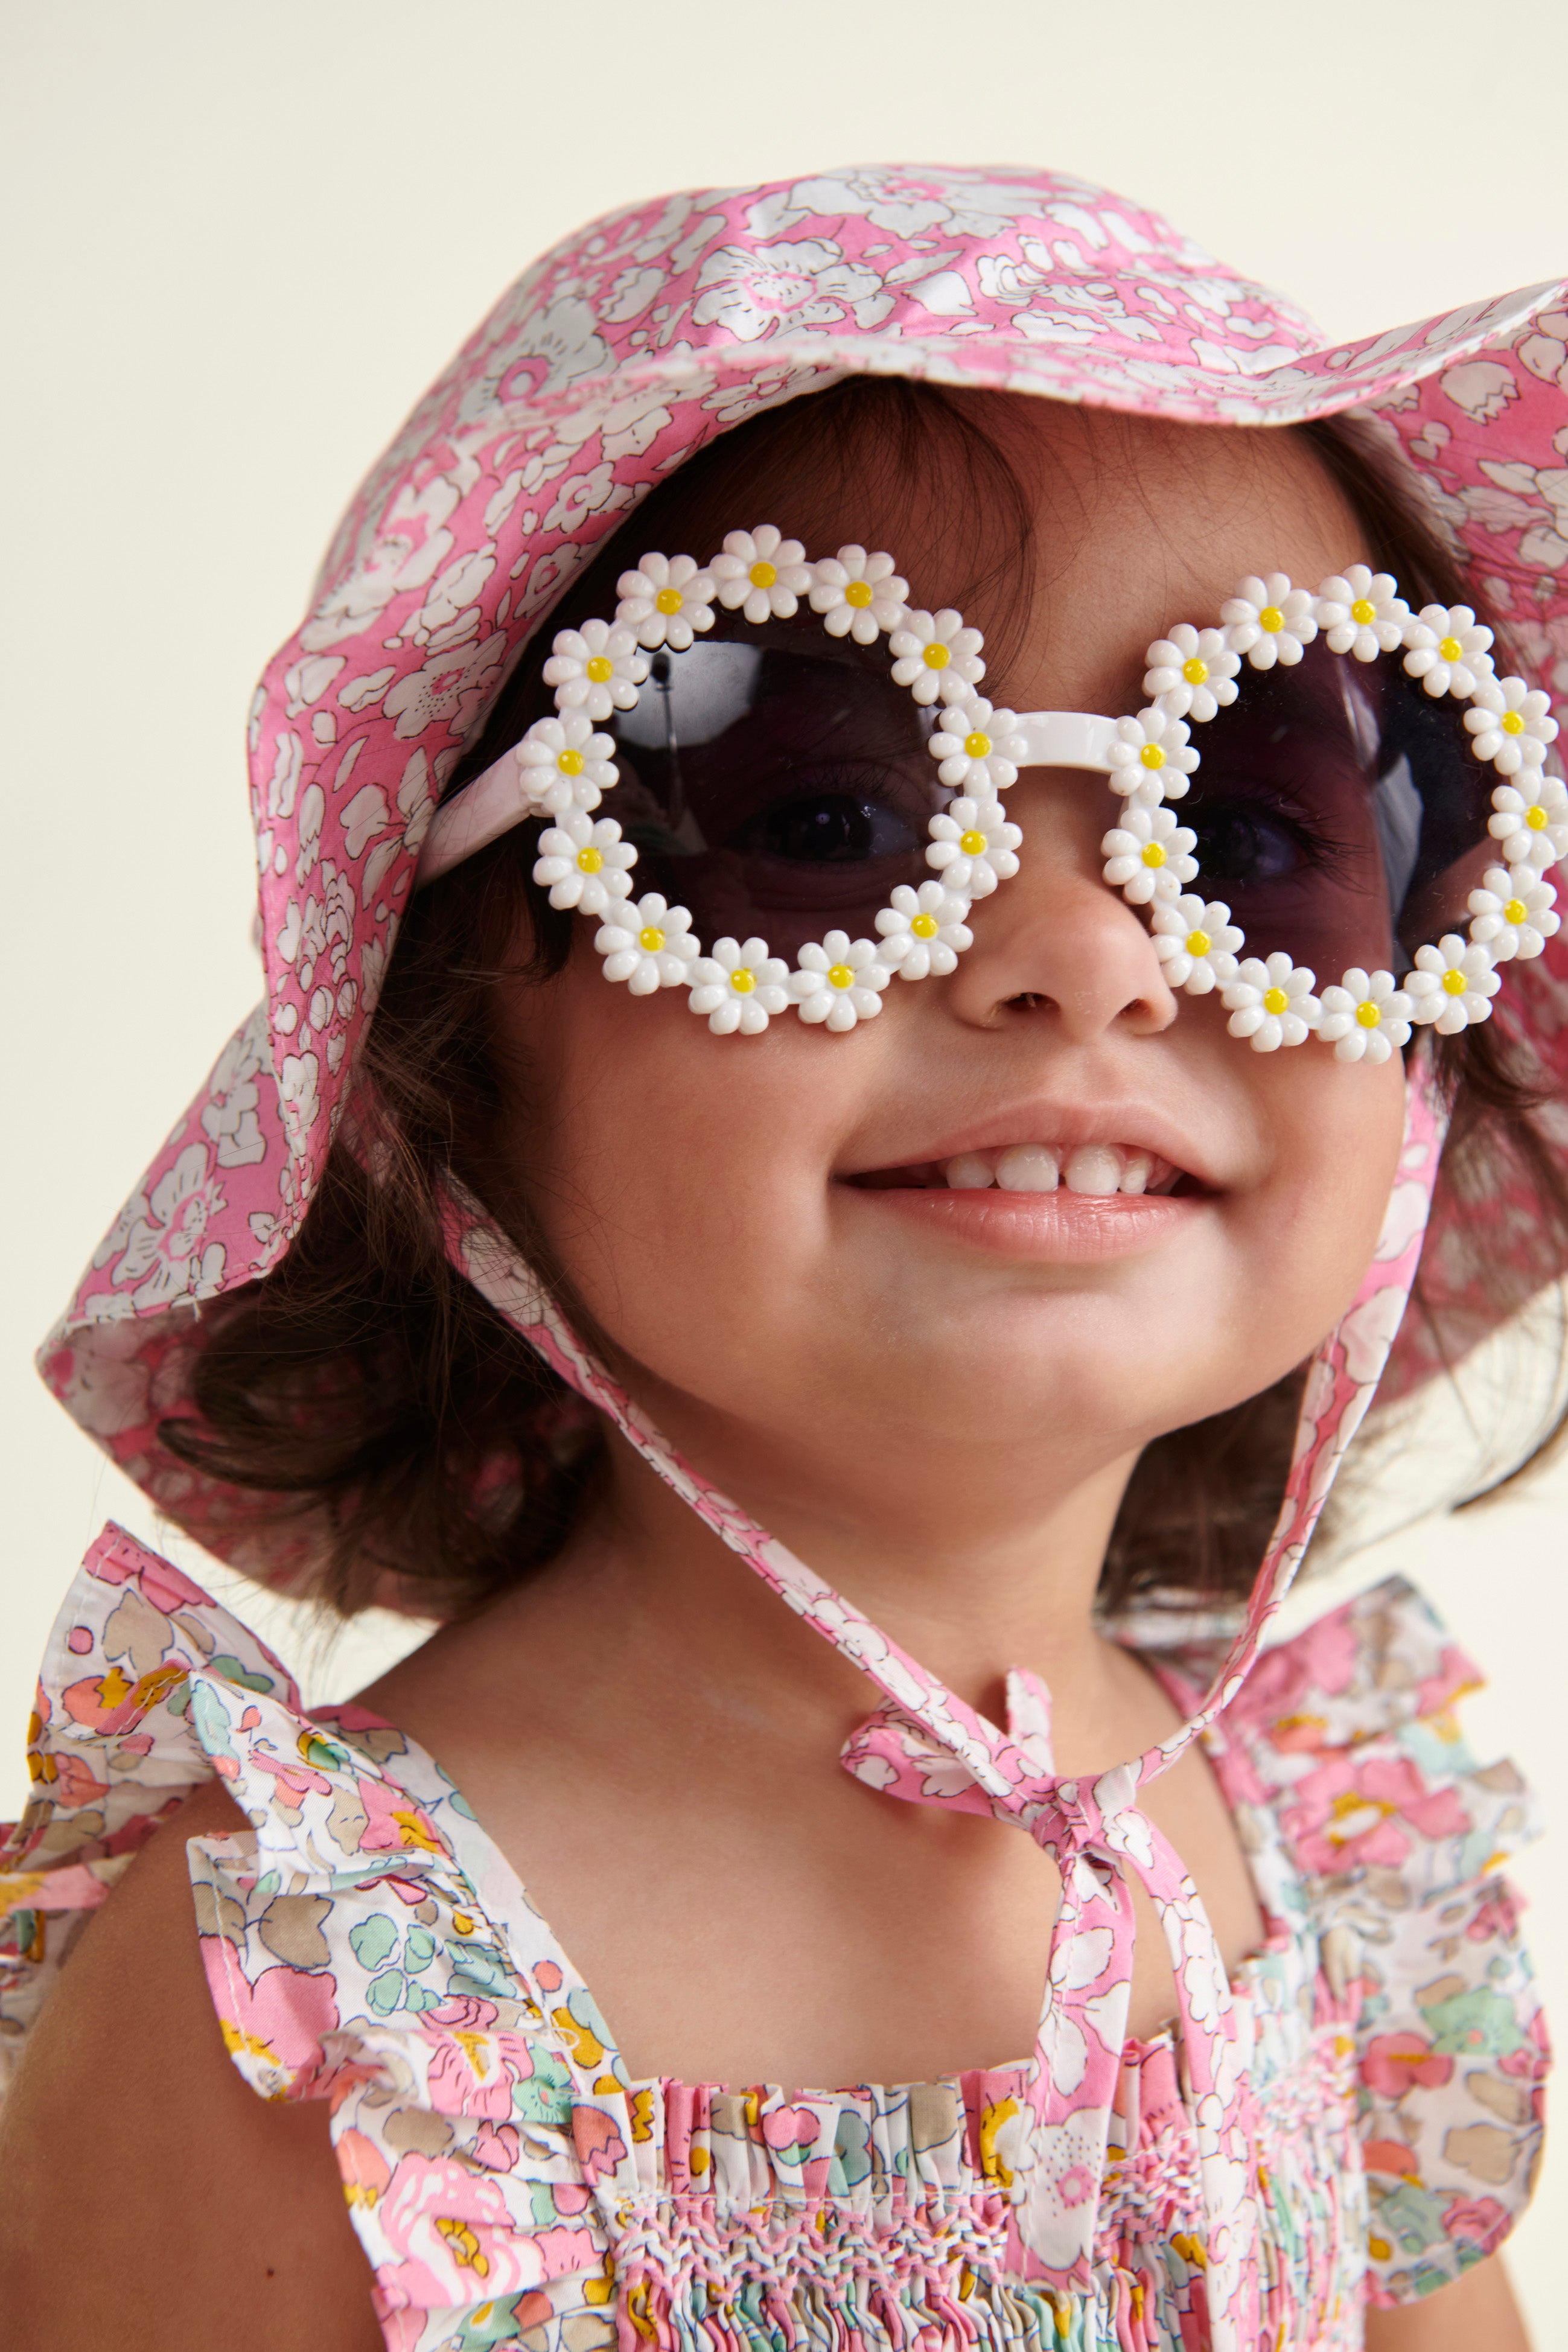
[[[1192,1708],[1218,1651],[1145,1656]],[[1528,2199],[1547,2037],[1495,1867],[1533,1809],[1465,1750],[1469,1689],[1389,1581],[1267,1651],[1206,1736],[1267,1926],[1229,1985],[1248,2343],[1359,2345],[1368,2300],[1458,2277]],[[1084,2171],[1093,2256],[1063,2291],[1016,2227],[1037,2060],[837,2091],[630,2079],[440,1766],[362,1708],[306,1712],[254,1635],[118,1529],[54,1630],[31,1766],[0,1851],[0,2060],[160,1818],[226,1780],[252,1830],[190,1839],[223,2039],[263,2098],[329,2103],[395,2352],[1211,2343],[1173,2034],[1124,2046]]]

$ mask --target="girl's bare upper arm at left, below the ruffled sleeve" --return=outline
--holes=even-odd
[[[87,1922],[5,2105],[0,2305],[38,2343],[374,2352],[371,2272],[322,2105],[259,2100],[197,1950],[186,1842],[244,1830],[207,1785]]]

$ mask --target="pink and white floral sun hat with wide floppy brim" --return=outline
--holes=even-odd
[[[376,461],[256,689],[266,1000],[40,1350],[54,1395],[120,1468],[252,1573],[289,1581],[299,1536],[174,1463],[158,1421],[181,1406],[200,1303],[266,1275],[299,1230],[463,746],[571,576],[670,468],[849,374],[1192,423],[1375,412],[1530,680],[1568,687],[1563,282],[1324,346],[1300,310],[1157,214],[1027,169],[693,191],[557,245]],[[1505,1002],[1568,1065],[1561,936],[1509,967]],[[473,1268],[473,1230],[456,1247]],[[1387,1350],[1387,1296],[1378,1317]],[[1396,1376],[1420,1378],[1429,1367],[1401,1345]],[[569,1336],[548,1352],[562,1348],[569,1362]]]

